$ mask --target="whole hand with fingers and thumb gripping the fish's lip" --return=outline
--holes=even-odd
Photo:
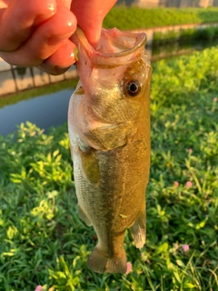
[[[70,36],[77,23],[97,45],[104,16],[116,0],[0,0],[0,56],[11,65],[60,75],[74,64]]]

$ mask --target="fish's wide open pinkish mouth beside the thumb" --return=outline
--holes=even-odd
[[[80,51],[85,51],[91,64],[96,66],[119,66],[128,64],[144,53],[147,35],[144,33],[121,32],[117,28],[102,29],[96,49],[90,45],[80,27],[77,27],[72,40]]]

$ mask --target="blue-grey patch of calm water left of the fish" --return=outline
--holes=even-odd
[[[26,121],[45,130],[51,126],[63,125],[67,121],[72,93],[72,90],[66,89],[0,108],[0,135],[14,132],[16,125]]]

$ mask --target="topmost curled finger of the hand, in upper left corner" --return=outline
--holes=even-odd
[[[17,49],[33,33],[35,25],[56,11],[55,0],[10,0],[5,5],[0,10],[0,51],[3,52]]]

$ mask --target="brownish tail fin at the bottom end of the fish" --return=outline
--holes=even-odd
[[[88,267],[97,273],[123,273],[127,271],[125,252],[121,256],[109,257],[99,246],[95,246],[88,259]]]

